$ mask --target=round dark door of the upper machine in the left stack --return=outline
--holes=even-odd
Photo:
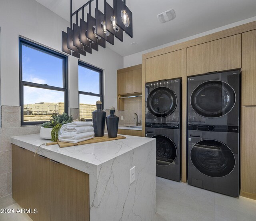
[[[156,117],[167,117],[175,110],[176,106],[177,98],[170,88],[155,88],[148,95],[148,111]]]

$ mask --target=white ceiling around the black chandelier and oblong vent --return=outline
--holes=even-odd
[[[36,1],[70,22],[70,0]],[[73,12],[86,2],[73,0]],[[103,3],[98,0],[102,12]],[[112,5],[113,1],[108,3]],[[256,16],[256,0],[126,0],[126,5],[133,13],[133,38],[124,33],[123,42],[115,38],[114,46],[107,43],[122,56]],[[176,18],[161,24],[157,15],[168,9],[174,9]],[[136,44],[131,45],[132,42]]]

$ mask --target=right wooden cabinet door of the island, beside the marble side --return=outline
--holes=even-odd
[[[52,221],[89,221],[89,175],[50,161]]]

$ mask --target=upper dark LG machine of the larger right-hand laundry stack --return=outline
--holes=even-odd
[[[188,78],[188,129],[238,132],[240,70]]]

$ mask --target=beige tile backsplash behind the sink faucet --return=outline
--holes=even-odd
[[[134,113],[138,114],[138,122],[142,122],[142,97],[124,98],[124,124],[136,125]]]

